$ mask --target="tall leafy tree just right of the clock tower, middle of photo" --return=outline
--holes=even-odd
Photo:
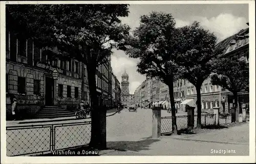
[[[180,40],[173,16],[152,12],[140,17],[140,26],[126,39],[123,48],[130,57],[140,59],[139,73],[154,77],[169,87],[173,134],[177,134],[174,81],[179,77],[175,60]]]

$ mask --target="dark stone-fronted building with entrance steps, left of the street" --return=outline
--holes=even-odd
[[[17,39],[6,31],[6,104],[11,102],[26,117],[34,117],[42,106],[71,109],[82,100],[90,102],[87,66],[75,59],[53,58],[53,49],[39,48],[32,39]],[[98,102],[109,105],[112,83],[110,62],[97,67]],[[55,72],[56,80],[53,78]]]

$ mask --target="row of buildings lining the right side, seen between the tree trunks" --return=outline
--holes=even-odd
[[[249,25],[249,23],[247,24]],[[224,49],[223,52],[219,54],[219,58],[237,56],[241,60],[249,62],[249,29],[241,30],[239,33],[228,37],[218,43],[216,47]],[[135,90],[135,94],[135,102],[140,102],[142,106],[151,107],[154,105],[157,106],[161,103],[162,105],[167,105],[169,107],[170,95],[168,86],[155,78],[146,78]],[[174,81],[173,96],[175,99],[175,106],[178,107],[178,110],[180,111],[185,111],[185,104],[190,104],[196,107],[196,88],[187,80],[179,79]],[[149,99],[149,97],[151,97],[151,99]],[[201,87],[202,112],[212,112],[212,109],[215,106],[221,107],[221,113],[231,112],[230,108],[233,106],[233,99],[231,92],[221,88],[220,86],[213,86],[210,83],[210,78],[203,82]],[[152,105],[150,105],[151,101]],[[168,103],[166,103],[166,101]],[[249,93],[246,91],[240,92],[239,101],[248,106]]]

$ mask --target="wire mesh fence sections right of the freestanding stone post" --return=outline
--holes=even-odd
[[[202,114],[201,125],[215,125],[215,114]],[[177,130],[183,130],[187,128],[187,116],[176,116]],[[172,116],[161,117],[161,134],[172,132]],[[197,115],[194,119],[194,127],[197,126]]]

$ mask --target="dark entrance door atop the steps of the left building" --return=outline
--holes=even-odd
[[[46,105],[53,105],[54,96],[54,79],[51,77],[46,77],[46,93],[45,100]]]

